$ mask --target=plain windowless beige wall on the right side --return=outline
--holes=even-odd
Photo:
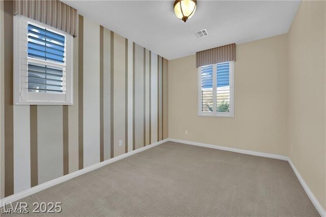
[[[326,209],[326,3],[303,1],[288,33],[288,155]]]

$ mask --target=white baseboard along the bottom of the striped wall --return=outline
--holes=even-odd
[[[165,143],[165,142],[168,142],[168,139],[153,143],[151,145],[148,145],[148,146],[145,146],[145,147],[133,150],[133,151],[129,151],[128,153],[121,154],[121,155],[119,155],[117,157],[114,157],[114,158],[111,158],[111,159],[108,159],[108,160],[104,160],[102,162],[99,162],[98,164],[92,165],[92,166],[84,168],[82,170],[78,170],[76,172],[69,173],[69,174],[67,174],[65,176],[61,176],[61,177],[53,179],[51,181],[39,184],[39,185],[37,185],[35,187],[31,187],[30,189],[27,189],[26,191],[20,192],[18,194],[14,194],[14,195],[5,197],[5,198],[0,200],[0,207],[2,207],[4,204],[9,204],[9,203],[15,202],[17,200],[23,199],[23,198],[28,197],[30,195],[33,195],[33,194],[35,194],[37,192],[43,191],[46,188],[52,187],[53,185],[57,185],[57,184],[60,184],[62,182],[68,181],[69,179],[72,179],[72,178],[75,178],[77,176],[83,175],[85,173],[91,172],[91,171],[96,170],[96,169],[98,169],[100,167],[111,164],[111,163],[113,163],[113,162],[115,162],[117,160],[121,160],[123,158],[126,158],[128,156],[131,156],[133,154],[136,154],[136,153],[139,153],[139,152],[142,152],[142,151],[145,151],[145,150],[147,150],[149,148],[153,148],[153,147],[155,147],[157,145],[160,145],[162,143]]]

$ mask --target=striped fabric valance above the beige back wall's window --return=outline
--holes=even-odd
[[[235,43],[196,52],[196,67],[235,61]]]

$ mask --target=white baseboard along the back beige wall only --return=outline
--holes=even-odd
[[[263,152],[248,151],[248,150],[237,149],[237,148],[229,148],[229,147],[225,147],[225,146],[211,145],[211,144],[206,144],[206,143],[197,143],[197,142],[176,140],[176,139],[169,139],[169,141],[176,142],[176,143],[188,144],[188,145],[201,146],[201,147],[206,147],[206,148],[220,149],[220,150],[224,150],[224,151],[232,151],[232,152],[237,152],[237,153],[242,153],[242,154],[250,154],[250,155],[261,156],[261,157],[275,158],[275,159],[280,159],[280,160],[288,159],[287,156],[278,155],[278,154],[267,154],[267,153],[263,153]]]

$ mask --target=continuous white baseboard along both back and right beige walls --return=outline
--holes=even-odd
[[[296,170],[294,167],[292,161],[288,156],[283,156],[283,155],[277,155],[277,154],[268,154],[268,153],[263,153],[263,152],[257,152],[257,151],[248,151],[248,150],[243,150],[243,149],[237,149],[237,148],[229,148],[229,147],[224,147],[224,146],[218,146],[218,145],[211,145],[211,144],[205,144],[205,143],[197,143],[197,142],[191,142],[191,141],[185,141],[185,140],[177,140],[177,139],[169,139],[171,142],[176,142],[176,143],[183,143],[183,144],[188,144],[188,145],[195,145],[195,146],[201,146],[201,147],[206,147],[206,148],[213,148],[213,149],[220,149],[220,150],[225,150],[225,151],[232,151],[232,152],[238,152],[242,154],[250,154],[250,155],[256,155],[256,156],[261,156],[261,157],[269,157],[269,158],[275,158],[275,159],[280,159],[280,160],[286,160],[289,162],[292,170],[294,171],[294,174],[296,175],[297,179],[300,181],[302,187],[305,189],[306,194],[310,198],[311,202],[314,204],[315,208],[319,212],[321,217],[326,217],[326,212],[321,206],[321,204],[318,202],[317,198],[314,196],[314,194],[311,192],[310,188],[308,187],[307,183],[305,180],[302,178],[300,173]]]

